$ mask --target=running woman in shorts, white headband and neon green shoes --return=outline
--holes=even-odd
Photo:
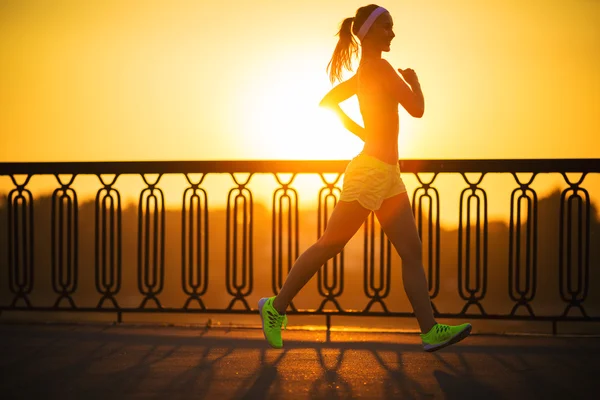
[[[394,38],[393,21],[383,7],[371,4],[346,18],[338,32],[339,41],[327,66],[331,83],[342,81],[342,70],[351,70],[352,58],[361,50],[356,74],[325,95],[320,105],[333,109],[344,127],[364,141],[362,152],[350,161],[344,173],[340,201],[335,206],[323,235],[298,257],[277,296],[258,302],[265,338],[281,348],[281,328],[294,296],[327,260],[346,243],[373,211],[394,248],[402,258],[404,290],[421,329],[425,351],[439,350],[466,338],[471,324],[439,324],[433,316],[427,278],[422,262],[421,239],[398,164],[398,104],[413,117],[425,110],[423,92],[412,69],[394,68],[383,58]],[[354,38],[358,38],[358,43]],[[339,103],[357,95],[364,128],[350,119]]]

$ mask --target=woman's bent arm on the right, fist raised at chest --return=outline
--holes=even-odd
[[[400,78],[398,73],[386,60],[381,59],[377,63],[378,76],[385,81],[390,94],[402,104],[402,107],[413,117],[421,118],[425,112],[425,99],[419,84],[419,78],[415,71],[410,68],[398,70],[404,77]],[[407,84],[408,83],[408,84]],[[408,86],[410,85],[410,87]]]

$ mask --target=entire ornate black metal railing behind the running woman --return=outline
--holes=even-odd
[[[176,161],[176,162],[68,162],[68,163],[0,163],[0,176],[8,176],[14,185],[6,197],[2,212],[6,232],[6,247],[0,249],[8,280],[8,303],[0,304],[2,311],[70,311],[70,312],[114,312],[121,321],[123,313],[255,313],[248,302],[254,295],[257,276],[264,277],[266,271],[257,271],[253,262],[254,203],[249,182],[254,175],[268,174],[277,181],[272,193],[271,204],[271,291],[277,293],[293,261],[300,253],[299,245],[299,197],[294,188],[298,174],[319,175],[323,186],[317,200],[318,233],[323,232],[331,205],[337,202],[340,193],[340,178],[347,161]],[[587,309],[591,285],[600,285],[590,278],[590,249],[598,246],[598,238],[592,238],[591,226],[595,216],[591,212],[592,199],[583,186],[589,174],[600,172],[600,159],[544,159],[544,160],[406,160],[401,161],[403,175],[413,175],[419,186],[412,195],[412,207],[423,242],[425,270],[436,316],[439,318],[505,319],[549,321],[556,332],[559,321],[600,321],[600,316],[590,314]],[[468,173],[480,173],[478,179],[467,177]],[[247,173],[245,180],[234,176]],[[325,174],[334,174],[327,180]],[[424,173],[433,178],[424,180]],[[510,174],[515,179],[508,206],[508,298],[512,307],[506,313],[487,312],[483,303],[488,285],[488,193],[481,187],[487,174]],[[518,173],[531,173],[523,180]],[[566,188],[560,194],[560,210],[557,232],[558,248],[558,292],[562,311],[539,315],[534,313],[532,302],[536,299],[539,281],[538,253],[539,221],[538,195],[532,183],[539,174],[561,174]],[[571,180],[568,173],[580,173]],[[150,181],[148,175],[158,174]],[[182,194],[180,221],[181,247],[165,247],[165,198],[159,187],[163,175],[178,174],[187,179],[189,186]],[[190,175],[200,174],[192,181]],[[229,303],[226,307],[213,307],[206,299],[209,282],[215,271],[223,265],[211,263],[209,232],[211,210],[208,191],[203,187],[204,178],[211,174],[228,174],[234,185],[229,190],[225,208],[225,241],[222,249],[225,258],[225,288]],[[290,174],[284,180],[282,174]],[[460,193],[459,224],[457,242],[458,295],[463,304],[458,312],[440,312],[436,305],[440,293],[440,193],[435,181],[439,175],[458,174],[464,179],[465,187]],[[17,176],[24,175],[22,182]],[[33,176],[55,176],[58,187],[51,195],[50,277],[54,302],[40,305],[32,301],[36,290],[34,265],[36,251],[34,243],[34,208],[37,200],[28,189]],[[62,175],[63,177],[61,177]],[[70,176],[65,179],[64,175]],[[95,175],[100,187],[94,200],[94,265],[80,265],[78,194],[73,189],[74,179],[80,175]],[[103,175],[114,175],[106,179]],[[122,175],[139,175],[145,188],[139,193],[137,204],[137,271],[135,278],[138,294],[142,301],[138,306],[122,306],[124,268],[122,263],[122,201],[115,184]],[[424,203],[428,206],[425,207]],[[523,206],[524,204],[524,206]],[[373,214],[365,221],[364,257],[362,265],[362,289],[366,304],[362,309],[344,308],[339,301],[344,292],[344,252],[328,261],[317,274],[317,289],[321,302],[315,309],[301,309],[291,305],[290,314],[317,314],[326,316],[327,326],[333,315],[358,316],[412,316],[410,311],[392,311],[386,300],[391,291],[391,246],[377,232]],[[376,237],[379,248],[376,248]],[[596,242],[593,242],[595,240]],[[165,253],[178,251],[181,265],[165,265]],[[379,263],[375,262],[378,254]],[[132,266],[129,266],[133,268]],[[595,265],[598,269],[600,266]],[[82,307],[74,301],[79,288],[81,269],[94,271],[94,287],[97,295],[95,307]],[[167,282],[167,268],[179,268],[180,291],[185,301],[179,307],[167,307],[161,303],[161,293]],[[89,271],[87,271],[89,272]],[[128,271],[131,272],[131,271]],[[4,290],[4,289],[2,289]],[[266,294],[266,293],[265,293]],[[377,304],[382,311],[374,311]],[[328,306],[329,305],[329,306]],[[239,308],[241,306],[241,308]],[[333,309],[327,308],[333,306]],[[468,312],[475,309],[476,312]],[[525,310],[525,315],[518,313]],[[581,315],[571,315],[578,309]]]

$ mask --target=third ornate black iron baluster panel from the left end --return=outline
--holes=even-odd
[[[96,290],[102,294],[98,308],[109,300],[114,308],[119,308],[115,296],[121,290],[121,195],[113,188],[119,175],[105,182],[98,190],[95,201],[95,271]]]

